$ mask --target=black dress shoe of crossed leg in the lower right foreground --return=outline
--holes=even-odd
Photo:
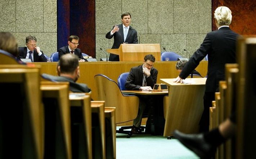
[[[196,153],[201,159],[209,159],[214,156],[216,147],[206,142],[203,134],[184,134],[174,130],[173,136],[184,146]]]

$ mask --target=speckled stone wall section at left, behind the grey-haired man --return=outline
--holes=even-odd
[[[57,0],[1,0],[0,32],[11,32],[19,46],[28,35],[50,55],[57,51]]]

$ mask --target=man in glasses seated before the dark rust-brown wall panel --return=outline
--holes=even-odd
[[[80,62],[85,62],[85,59],[82,56],[81,49],[77,48],[77,46],[79,45],[78,41],[79,41],[79,38],[76,35],[71,35],[68,38],[68,46],[64,46],[58,50],[59,59],[62,55],[71,53],[71,54],[75,54],[78,58],[81,58]]]

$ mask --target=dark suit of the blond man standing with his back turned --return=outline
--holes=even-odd
[[[182,69],[180,77],[185,79],[208,54],[208,73],[204,95],[204,111],[200,120],[200,131],[208,131],[209,107],[215,100],[215,92],[219,91],[219,81],[225,80],[225,64],[235,63],[235,46],[238,34],[223,27],[206,35],[200,48],[189,59]]]

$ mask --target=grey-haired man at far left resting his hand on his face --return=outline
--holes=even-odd
[[[17,59],[26,58],[31,59],[31,62],[46,62],[46,57],[44,56],[40,47],[36,46],[36,37],[31,35],[26,38],[27,47],[19,47],[19,56]]]

